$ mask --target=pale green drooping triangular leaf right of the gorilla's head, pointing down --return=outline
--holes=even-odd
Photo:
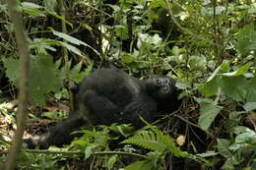
[[[200,117],[198,125],[205,131],[209,129],[209,127],[214,122],[216,116],[223,109],[222,106],[215,104],[215,102],[202,102],[200,103]]]

